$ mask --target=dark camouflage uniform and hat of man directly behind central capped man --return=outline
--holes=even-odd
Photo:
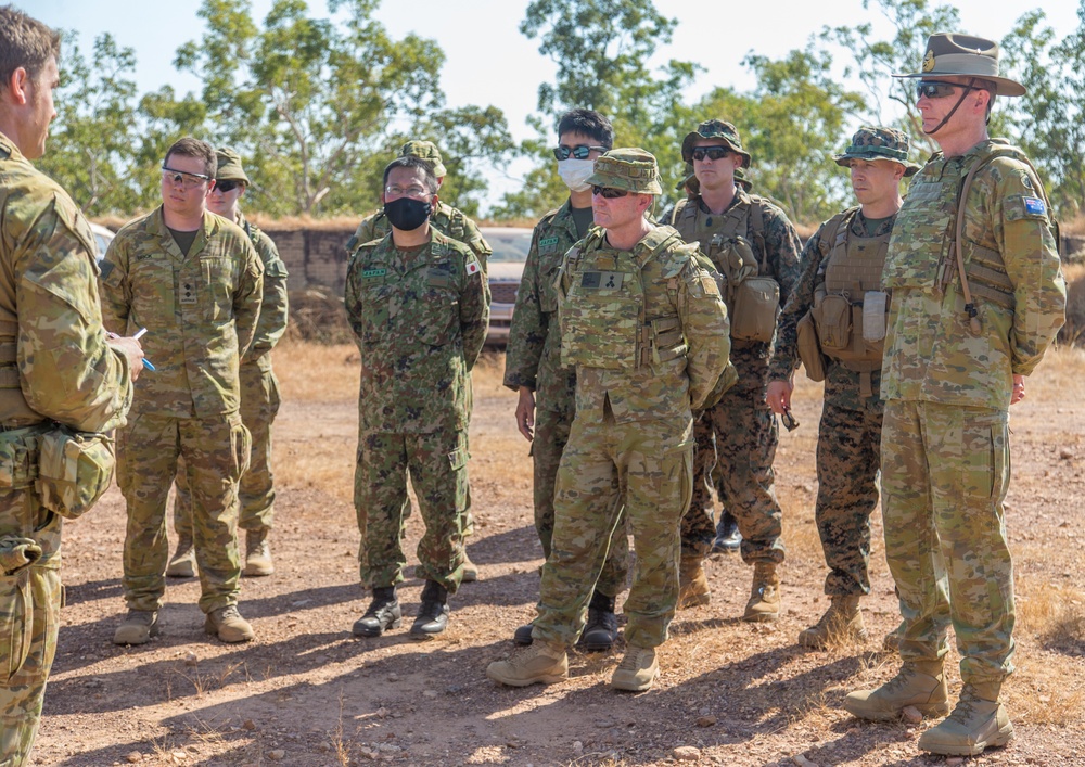
[[[684,154],[688,154],[690,137],[698,136],[720,138],[749,162],[733,126],[720,120],[702,123],[699,131],[687,136]],[[700,244],[701,252],[726,279],[770,278],[779,286],[779,305],[787,303],[799,277],[802,243],[794,226],[776,205],[736,184],[735,200],[722,215],[712,214],[697,196],[680,201],[671,222],[684,240]],[[744,243],[741,248],[744,255],[736,269],[730,263],[735,256],[726,254],[738,252],[733,245],[739,239]],[[730,314],[733,332],[736,315]],[[695,418],[693,500],[682,519],[682,550],[690,554],[707,554],[715,537],[709,486],[713,484],[713,468],[718,462],[717,490],[724,507],[738,521],[743,561],[783,561],[782,512],[776,499],[773,472],[779,434],[765,398],[775,317],[765,317],[763,323],[762,337],[767,340],[735,340],[732,344],[731,362],[738,370],[738,383]]]

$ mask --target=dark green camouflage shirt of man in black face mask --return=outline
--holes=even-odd
[[[462,430],[470,373],[486,341],[489,285],[467,245],[431,228],[401,251],[392,235],[347,264],[346,311],[361,353],[361,432]]]

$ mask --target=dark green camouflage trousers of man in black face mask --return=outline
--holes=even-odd
[[[417,575],[455,593],[463,578],[463,511],[468,495],[467,432],[363,434],[358,442],[354,502],[361,533],[361,583],[370,588],[404,579],[407,475],[418,496],[425,534]]]

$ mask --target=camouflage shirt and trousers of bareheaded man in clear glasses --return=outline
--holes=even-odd
[[[117,436],[130,610],[154,612],[163,603],[166,501],[179,457],[193,496],[200,608],[210,613],[237,604],[238,480],[251,453],[239,413],[239,359],[256,331],[263,273],[245,232],[209,212],[187,256],[161,207],[122,229],[105,254],[105,325],[127,335],[146,328],[144,348],[156,366],[140,379]]]

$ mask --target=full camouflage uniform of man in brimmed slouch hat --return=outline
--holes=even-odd
[[[897,215],[883,273],[893,302],[882,366],[882,515],[906,623],[901,655],[940,660],[952,619],[969,685],[998,683],[1012,670],[1007,408],[1012,375],[1032,373],[1065,309],[1039,179],[1018,151],[984,163],[1005,146],[988,140],[928,161]],[[978,163],[963,202],[975,329],[945,233]]]

